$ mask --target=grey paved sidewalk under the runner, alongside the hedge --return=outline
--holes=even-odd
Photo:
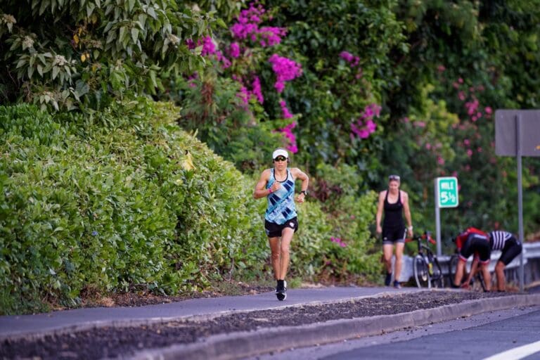
[[[418,288],[330,287],[288,290],[287,300],[276,295],[226,296],[184,300],[144,307],[95,307],[53,311],[47,314],[0,316],[0,341],[6,338],[34,338],[46,333],[64,333],[101,326],[128,326],[158,323],[200,316],[212,318],[231,311],[276,309],[300,304],[348,301],[392,293],[410,293]]]

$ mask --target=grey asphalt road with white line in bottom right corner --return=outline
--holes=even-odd
[[[245,360],[298,359],[437,359],[479,360],[499,354],[499,359],[540,359],[540,305],[490,311],[480,315],[418,326],[406,330],[346,340],[330,345],[290,349]],[[532,354],[501,354],[529,345]],[[536,351],[535,351],[536,350]]]

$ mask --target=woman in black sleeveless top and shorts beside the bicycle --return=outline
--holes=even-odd
[[[383,257],[386,267],[385,285],[389,286],[392,281],[392,252],[396,246],[396,262],[394,274],[394,288],[401,288],[399,276],[401,275],[401,262],[403,259],[403,249],[405,247],[406,230],[409,236],[413,236],[413,225],[411,222],[411,210],[409,210],[409,194],[399,190],[399,176],[388,176],[388,189],[379,193],[379,203],[377,207],[377,233],[383,236]],[[380,221],[385,219],[383,226]],[[403,214],[407,221],[407,229],[403,221]]]

